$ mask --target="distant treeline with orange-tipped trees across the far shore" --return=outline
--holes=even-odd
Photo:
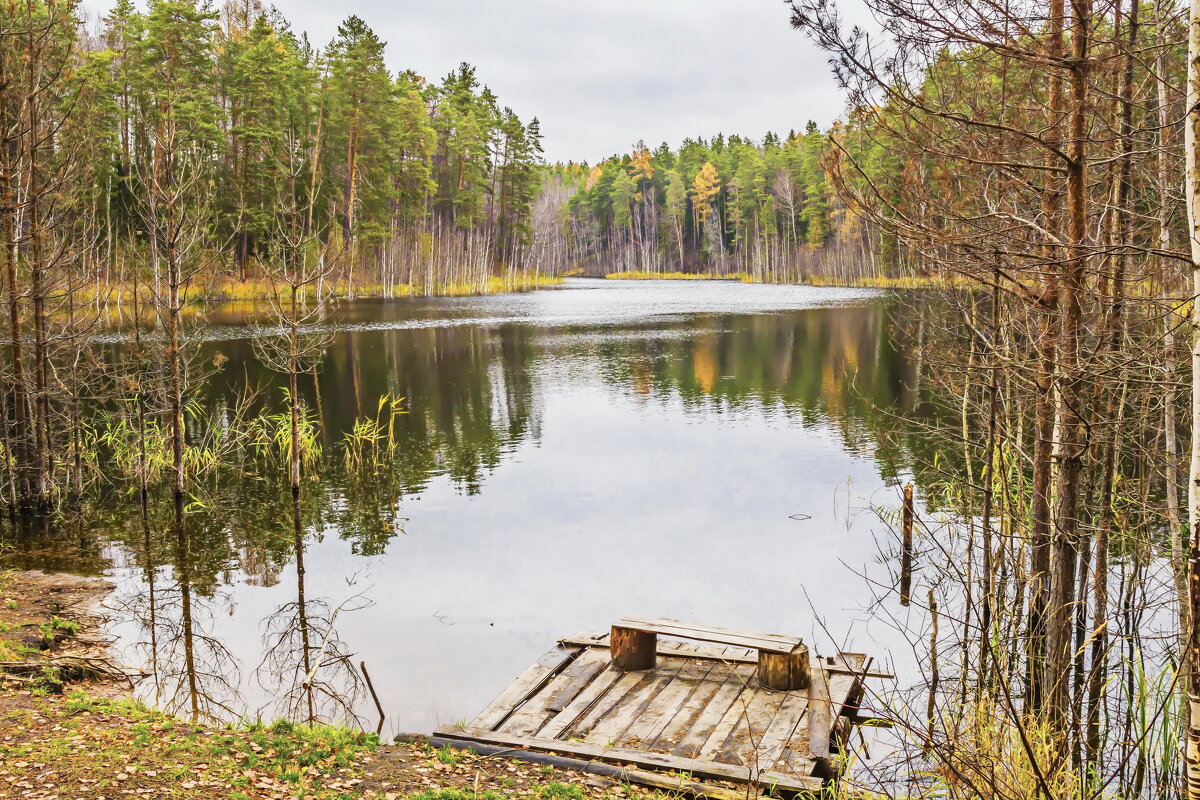
[[[744,273],[758,281],[856,281],[889,275],[895,259],[839,199],[827,174],[842,125],[809,122],[786,138],[685,139],[588,167],[548,172],[570,192],[566,260],[592,273]]]

